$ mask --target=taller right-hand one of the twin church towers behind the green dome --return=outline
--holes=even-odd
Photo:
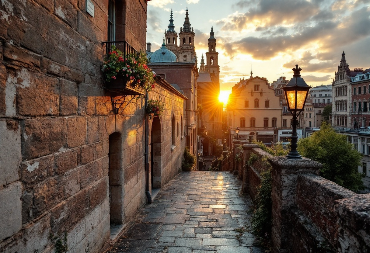
[[[180,28],[179,33],[179,53],[178,61],[196,61],[196,54],[194,48],[194,28],[190,26],[188,7],[186,7],[186,15],[184,27]]]

